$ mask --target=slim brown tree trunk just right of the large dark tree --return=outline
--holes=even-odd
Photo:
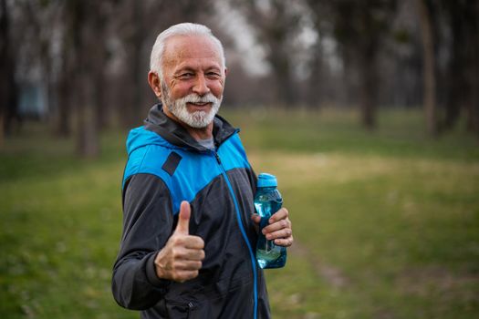
[[[436,136],[436,62],[434,55],[434,37],[432,34],[432,13],[431,10],[429,10],[425,1],[426,0],[417,0],[422,34],[422,57],[424,61],[423,104],[428,133],[432,136]]]

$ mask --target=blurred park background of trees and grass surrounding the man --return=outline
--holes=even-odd
[[[109,292],[124,140],[186,21],[292,213],[274,317],[477,317],[475,0],[0,0],[0,316],[138,317]]]

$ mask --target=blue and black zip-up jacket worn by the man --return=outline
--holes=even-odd
[[[112,290],[141,318],[269,318],[263,271],[255,262],[255,173],[238,130],[214,118],[215,149],[205,149],[178,123],[151,108],[132,129],[123,176],[123,233]],[[192,207],[190,233],[203,238],[198,277],[159,279],[154,258],[176,227],[180,203]]]

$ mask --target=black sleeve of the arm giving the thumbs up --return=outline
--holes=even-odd
[[[172,234],[170,192],[151,174],[133,175],[123,190],[123,233],[111,287],[118,304],[145,310],[166,293],[168,281],[155,272],[156,254]]]

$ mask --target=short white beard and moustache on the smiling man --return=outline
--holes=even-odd
[[[210,92],[203,97],[192,93],[186,97],[172,100],[170,98],[170,90],[164,82],[161,83],[161,97],[163,103],[172,112],[172,115],[194,129],[204,129],[213,122],[223,99],[223,97],[216,98]],[[186,106],[187,103],[211,103],[212,108],[209,111],[194,111],[190,113]]]

